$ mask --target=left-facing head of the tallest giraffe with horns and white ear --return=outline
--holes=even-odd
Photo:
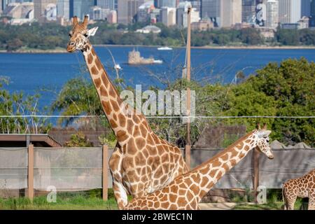
[[[73,28],[69,32],[69,43],[66,50],[68,52],[74,52],[75,50],[85,51],[87,43],[89,43],[89,37],[94,36],[99,27],[87,29],[88,17],[85,16],[83,22],[79,23],[78,18],[73,17]]]

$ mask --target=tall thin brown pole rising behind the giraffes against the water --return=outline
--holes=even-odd
[[[191,17],[191,8],[188,8],[188,21],[187,21],[187,81],[188,85],[190,83],[190,17]],[[190,87],[187,87],[187,127],[186,127],[186,146],[185,146],[185,160],[190,169],[190,149],[191,149],[191,141],[190,141]]]

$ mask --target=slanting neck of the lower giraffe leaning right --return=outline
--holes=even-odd
[[[218,153],[214,158],[202,163],[202,165],[184,175],[186,176],[184,179],[188,182],[193,180],[194,188],[195,186],[199,188],[197,190],[198,194],[195,195],[199,197],[199,202],[226,172],[235,167],[251,149],[255,148],[257,141],[256,135],[251,132],[231,146],[228,146],[228,148],[225,148],[224,151]]]

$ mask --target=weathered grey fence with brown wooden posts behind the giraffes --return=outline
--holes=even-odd
[[[59,155],[59,159],[55,158],[56,153],[59,151],[71,151],[76,152],[76,149],[80,151],[83,155],[80,154],[81,158],[86,158],[86,160],[91,160],[92,163],[94,163],[94,157],[95,154],[87,153],[88,150],[85,150],[85,148],[34,148],[33,145],[29,145],[28,148],[21,148],[20,150],[26,153],[27,150],[27,156],[24,155],[23,159],[20,157],[17,157],[14,155],[9,155],[6,158],[6,153],[3,153],[0,148],[0,190],[1,190],[1,180],[6,179],[27,179],[26,183],[25,181],[22,181],[22,184],[20,184],[18,187],[14,186],[14,188],[11,189],[22,189],[27,188],[26,196],[29,198],[34,197],[34,188],[35,190],[38,189],[45,189],[46,186],[49,185],[50,179],[52,179],[52,183],[59,184],[59,179],[62,178],[56,175],[64,175],[62,169],[95,169],[84,167],[84,165],[81,165],[80,162],[76,162],[76,164],[81,165],[78,167],[71,167],[69,165],[68,167],[57,167],[58,172],[54,172],[54,169],[56,169],[55,165],[50,165],[50,162],[53,163],[52,160],[62,160],[64,157],[64,154]],[[12,149],[3,149],[8,151],[13,151]],[[69,191],[76,191],[76,190],[88,190],[88,189],[94,189],[92,187],[97,186],[96,188],[102,188],[102,197],[104,200],[107,200],[108,195],[108,188],[112,188],[112,179],[111,179],[111,173],[109,172],[109,158],[111,157],[111,154],[113,153],[113,149],[108,148],[107,146],[103,146],[102,148],[90,148],[90,150],[97,150],[97,155],[99,155],[97,158],[97,172],[91,172],[89,173],[89,170],[86,172],[69,172],[69,176],[74,176],[73,181],[73,188],[69,188]],[[36,161],[34,161],[34,151],[36,152],[36,160],[38,163],[38,160],[41,160],[42,158],[38,158],[38,154],[47,155],[49,159],[47,160],[41,160],[41,167],[38,168],[38,165],[36,165]],[[102,152],[101,152],[102,151]],[[214,155],[219,153],[221,149],[193,149],[191,151],[191,165],[192,167],[196,167],[197,165],[200,165],[202,162],[208,160],[209,158],[212,158]],[[273,149],[274,151],[274,160],[268,160],[264,155],[259,153],[258,151],[251,151],[244,160],[239,162],[238,165],[236,165],[230,172],[225,174],[223,178],[216,183],[216,186],[214,188],[217,189],[230,189],[230,188],[243,188],[243,189],[252,189],[256,190],[259,185],[266,186],[266,188],[281,188],[281,184],[286,181],[287,179],[296,178],[299,176],[302,176],[303,174],[306,174],[311,169],[315,169],[315,150],[311,148],[295,148],[295,149]],[[12,153],[12,152],[11,152]],[[55,153],[55,154],[54,154]],[[101,156],[102,153],[102,156]],[[185,152],[182,151],[183,155],[185,155]],[[49,155],[48,155],[49,154]],[[58,153],[57,153],[58,154]],[[15,170],[22,169],[21,167],[8,167],[13,162],[15,164],[18,164],[19,161],[15,160],[25,160],[24,158],[27,158],[27,162],[23,163],[23,169],[27,169],[27,176],[26,177],[20,177],[21,174],[18,172],[15,172]],[[93,159],[93,160],[92,160]],[[8,160],[8,161],[6,161]],[[73,158],[74,161],[76,161],[76,158]],[[102,160],[102,161],[101,161]],[[90,161],[90,163],[91,163]],[[95,160],[96,161],[96,160]],[[48,162],[48,164],[47,164]],[[20,162],[21,163],[21,162]],[[4,165],[3,167],[3,164]],[[26,165],[27,164],[27,165]],[[35,164],[35,167],[34,167]],[[6,167],[7,166],[7,167]],[[10,169],[10,172],[8,170]],[[44,172],[38,172],[38,169],[42,169]],[[4,171],[3,171],[4,170]],[[35,174],[34,174],[35,170]],[[45,172],[48,170],[48,173]],[[51,176],[50,176],[50,170]],[[1,173],[2,172],[2,173]],[[102,174],[101,174],[102,173]],[[22,174],[22,176],[25,174]],[[55,176],[54,176],[55,175]],[[78,175],[78,176],[76,176]],[[90,176],[89,176],[90,175]],[[17,177],[18,176],[18,177]],[[34,187],[34,176],[36,177],[36,184]],[[68,176],[68,177],[69,177]],[[88,178],[96,178],[97,184],[90,184],[88,186],[80,186],[82,183],[87,182],[84,178],[84,176],[87,176]],[[76,178],[81,178],[81,182],[76,182]],[[45,179],[46,178],[46,179]],[[39,182],[41,182],[41,179],[48,180],[46,183],[38,183],[38,179],[40,179]],[[102,179],[102,180],[101,180]],[[93,179],[94,180],[94,179]],[[55,182],[54,182],[55,181]],[[102,181],[102,184],[101,184]],[[42,181],[44,182],[44,181]],[[65,181],[66,182],[66,181]],[[78,183],[78,185],[76,185]],[[53,185],[53,184],[52,184]],[[56,185],[56,186],[57,186]],[[77,186],[80,186],[80,188]],[[8,185],[8,189],[10,189],[10,184]],[[66,189],[66,188],[65,188]],[[57,190],[64,190],[62,188],[57,188]],[[67,191],[67,190],[64,190]]]

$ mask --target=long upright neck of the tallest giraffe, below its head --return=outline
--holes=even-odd
[[[105,71],[102,62],[90,43],[85,45],[83,55],[94,87],[96,88],[102,103],[102,108],[106,118],[109,120],[113,132],[118,138],[118,143],[120,140],[125,141],[127,139],[125,123],[128,115],[127,113],[124,113],[124,110],[122,109],[124,105],[123,101],[120,99],[116,87],[111,83],[108,73]]]

